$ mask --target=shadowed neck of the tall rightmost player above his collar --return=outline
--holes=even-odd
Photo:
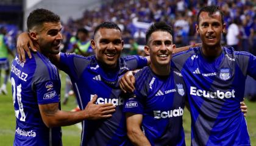
[[[202,44],[202,54],[205,57],[216,58],[222,52],[221,44],[218,46],[205,46]]]

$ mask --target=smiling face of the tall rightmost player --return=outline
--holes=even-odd
[[[221,47],[221,33],[225,31],[226,24],[222,24],[221,13],[215,12],[209,15],[202,12],[199,15],[199,24],[196,32],[199,33],[203,47]]]

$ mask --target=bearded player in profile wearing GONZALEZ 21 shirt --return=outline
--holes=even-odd
[[[60,17],[45,9],[37,9],[27,18],[29,36],[37,52],[22,63],[18,57],[11,69],[16,132],[13,145],[62,145],[60,126],[72,125],[84,119],[111,117],[115,106],[96,105],[96,96],[78,112],[60,110],[59,72],[49,61],[59,54],[62,41]]]

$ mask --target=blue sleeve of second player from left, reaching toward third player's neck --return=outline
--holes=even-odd
[[[147,66],[148,60],[146,57],[141,57],[138,55],[132,55],[125,58],[127,66],[129,66],[130,70],[140,69],[144,66]]]

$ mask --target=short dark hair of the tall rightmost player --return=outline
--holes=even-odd
[[[202,12],[209,13],[209,16],[212,16],[214,13],[219,12],[221,14],[221,23],[224,24],[224,13],[219,9],[218,5],[209,5],[202,7],[202,9],[197,13],[196,23],[199,24],[199,15]]]

